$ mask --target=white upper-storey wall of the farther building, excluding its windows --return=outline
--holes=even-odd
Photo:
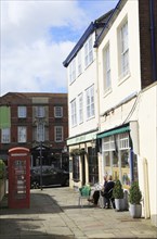
[[[90,36],[92,38],[92,46],[94,43],[94,33]],[[86,45],[86,43],[84,43]],[[76,58],[69,63],[67,67],[68,72],[68,110],[69,110],[69,137],[74,137],[76,135],[89,131],[90,129],[97,128],[97,117],[99,112],[97,108],[97,79],[96,79],[96,61],[95,61],[95,50],[92,47],[93,58],[91,63],[86,66],[84,65],[84,45],[76,55]],[[78,66],[78,55],[81,53],[81,74],[78,75],[77,66]],[[69,68],[73,62],[76,62],[76,77],[73,83],[69,79]],[[88,117],[87,112],[87,90],[93,87],[93,98],[94,98],[94,113]],[[82,121],[79,120],[79,96],[82,95]],[[76,124],[73,125],[71,122],[71,102],[76,100]]]

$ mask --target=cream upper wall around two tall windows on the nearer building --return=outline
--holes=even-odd
[[[133,12],[133,14],[132,14]],[[125,18],[128,18],[128,35],[129,35],[129,65],[130,73],[119,80],[118,75],[118,27]],[[112,28],[104,37],[99,47],[99,87],[100,87],[100,114],[104,114],[107,110],[114,108],[120,101],[123,101],[129,96],[141,90],[141,73],[140,73],[140,39],[139,39],[139,4],[138,1],[128,1],[118,17],[115,20]],[[103,83],[103,49],[109,42],[110,47],[110,74],[112,88],[104,92]],[[122,109],[122,118],[114,124],[122,124],[127,116],[128,106]],[[126,112],[125,112],[126,111]],[[119,112],[121,115],[121,110]],[[101,131],[110,128],[113,124],[104,124],[104,118],[101,117]],[[115,125],[116,126],[116,125]]]

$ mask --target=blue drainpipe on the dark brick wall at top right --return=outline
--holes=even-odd
[[[155,43],[155,17],[154,17],[154,0],[149,0],[149,16],[151,16],[151,48],[152,48],[152,71],[153,81],[157,80],[157,62],[156,62],[156,43]]]

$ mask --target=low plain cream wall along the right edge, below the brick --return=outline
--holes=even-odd
[[[157,226],[157,81],[147,87],[141,97],[139,108],[139,136],[140,136],[140,184],[145,193],[145,178],[148,183],[149,202],[148,211],[153,224]],[[147,163],[144,173],[143,162]],[[147,205],[145,205],[147,206]],[[147,213],[147,212],[144,212]]]

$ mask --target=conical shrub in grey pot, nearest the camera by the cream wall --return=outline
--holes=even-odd
[[[129,211],[133,218],[140,218],[142,215],[142,192],[138,181],[133,181],[129,189]]]

